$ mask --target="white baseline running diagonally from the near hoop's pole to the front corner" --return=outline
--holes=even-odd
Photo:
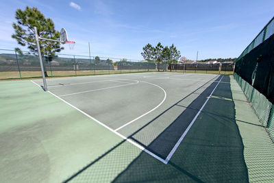
[[[32,81],[32,82],[33,82],[33,81]],[[36,84],[36,82],[33,82],[33,83]],[[36,85],[39,86],[38,84],[36,84]],[[39,86],[39,87],[40,87],[40,86]],[[163,162],[164,164],[167,164],[167,162],[166,162],[164,159],[162,159],[162,158],[160,158],[159,156],[153,154],[153,152],[151,152],[151,151],[145,149],[145,147],[142,147],[142,145],[139,145],[138,143],[136,143],[136,142],[132,141],[131,139],[129,139],[129,138],[123,136],[122,134],[119,134],[118,132],[115,132],[114,130],[112,130],[112,128],[110,128],[110,127],[108,127],[107,125],[105,125],[104,123],[98,121],[98,120],[95,119],[94,117],[91,117],[90,115],[86,114],[86,112],[84,112],[84,111],[80,110],[79,108],[73,106],[71,103],[69,103],[69,102],[65,101],[64,99],[61,99],[61,98],[58,97],[57,95],[51,93],[49,90],[48,90],[48,93],[50,93],[50,94],[53,95],[54,97],[60,99],[61,101],[64,101],[64,103],[68,104],[68,105],[71,106],[72,108],[75,108],[75,110],[78,110],[79,112],[81,112],[82,114],[84,114],[86,117],[88,117],[88,118],[92,119],[93,121],[99,123],[99,125],[102,125],[103,127],[107,128],[108,130],[110,130],[111,132],[113,132],[114,134],[120,136],[120,137],[123,138],[125,141],[131,143],[132,145],[135,145],[136,147],[138,147],[138,148],[141,149],[142,151],[145,151],[147,154],[153,156],[153,158],[156,158],[157,160],[160,160],[160,162]]]

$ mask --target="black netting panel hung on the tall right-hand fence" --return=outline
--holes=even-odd
[[[259,62],[257,62],[259,60]],[[274,35],[236,62],[235,72],[274,102]]]

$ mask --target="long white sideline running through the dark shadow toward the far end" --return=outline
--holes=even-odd
[[[221,80],[222,79],[223,79],[223,76],[221,77]],[[214,90],[217,88],[217,86],[219,85],[219,83],[221,82],[221,80],[219,80],[219,82],[216,84],[215,88],[212,90],[212,93],[210,93],[210,96],[208,96],[208,99],[206,99],[205,103],[203,103],[203,106],[201,106],[199,112],[197,112],[197,114],[194,117],[194,119],[192,119],[191,123],[186,128],[186,131],[184,131],[184,134],[182,134],[182,136],[179,138],[179,140],[177,141],[177,143],[175,144],[175,146],[173,147],[173,149],[169,153],[169,156],[166,157],[166,160],[165,160],[166,162],[169,162],[169,160],[171,159],[171,157],[175,153],[176,149],[179,147],[180,143],[183,141],[184,137],[186,136],[186,134],[190,130],[190,127],[192,127],[193,123],[196,121],[197,117],[199,116],[199,114],[201,113],[201,111],[203,110],[203,108],[206,106],[206,103],[208,103],[208,100],[210,99],[210,97],[214,93]]]

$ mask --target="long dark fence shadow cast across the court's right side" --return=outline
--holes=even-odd
[[[226,77],[224,79],[227,80]],[[219,80],[220,78],[216,79],[216,81]],[[210,84],[201,93],[202,95],[192,101],[186,110],[169,127],[166,127],[154,141],[147,146],[144,145],[146,149],[162,158],[166,158],[167,152],[171,150],[178,137],[184,132],[186,124],[189,124],[190,120],[193,119],[193,115],[197,114],[197,110],[201,108],[206,96],[212,92],[215,86],[216,82]],[[231,93],[231,90],[229,91],[229,88],[225,87],[227,86],[222,86],[220,83],[214,95],[221,97],[223,93]],[[229,97],[229,94],[225,96]],[[186,97],[173,106],[177,106]],[[226,110],[220,110],[220,106],[223,106]],[[153,123],[155,119],[149,121],[149,123]],[[134,134],[147,127],[149,123],[128,138],[134,139]],[[140,141],[138,143],[142,144]],[[97,160],[90,162],[90,164],[72,175],[65,182],[71,180],[73,182],[88,182],[88,180],[96,182],[99,180],[103,181],[104,176],[110,178],[110,174],[114,172],[114,169],[123,164],[123,160],[132,155],[132,149],[127,149],[127,144],[126,141],[121,141],[121,143],[112,147]],[[123,154],[121,154],[122,152]],[[101,165],[98,166],[97,164]],[[247,167],[243,158],[242,139],[236,125],[233,101],[217,98],[210,99],[197,121],[192,125],[187,138],[184,138],[183,143],[179,145],[168,164],[164,164],[142,151],[129,164],[125,164],[122,171],[116,173],[116,175],[114,174],[111,179],[113,182],[248,182]]]

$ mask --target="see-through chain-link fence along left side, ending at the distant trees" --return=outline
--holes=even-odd
[[[42,58],[42,62],[47,77],[157,71],[154,63],[132,59],[124,62],[121,58],[56,54],[53,58]],[[38,56],[0,49],[0,80],[31,77],[42,77]]]

